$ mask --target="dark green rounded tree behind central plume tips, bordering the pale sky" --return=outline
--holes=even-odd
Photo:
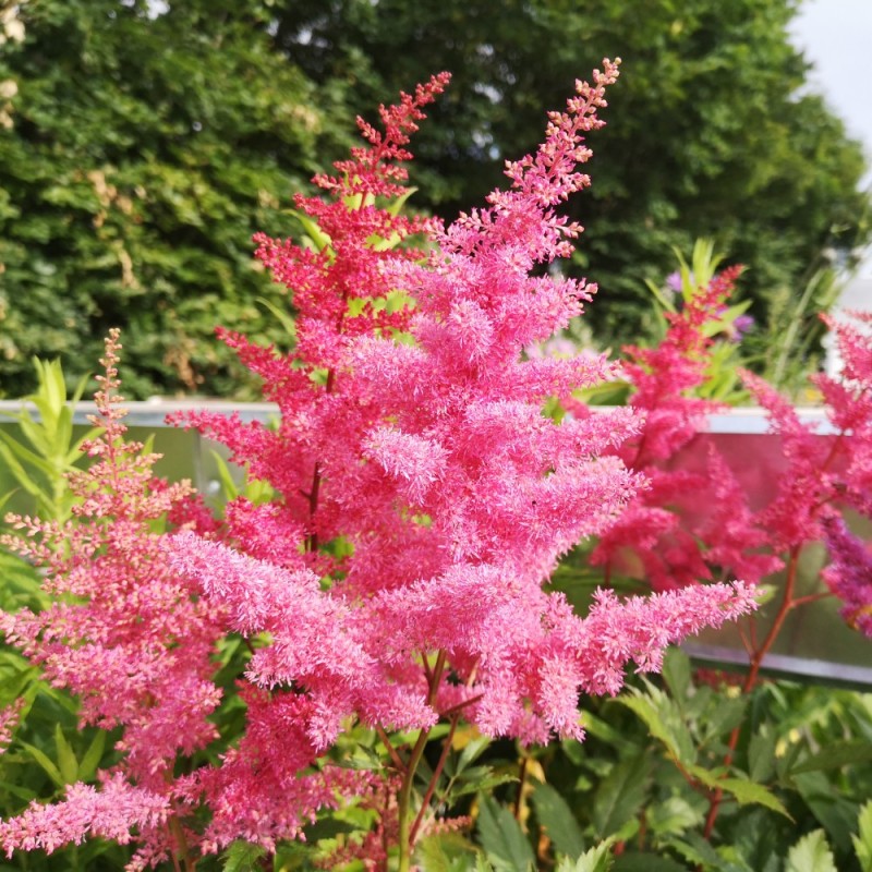
[[[593,186],[569,208],[586,227],[576,268],[601,284],[603,340],[628,341],[650,300],[644,279],[712,237],[749,267],[765,320],[799,298],[832,250],[870,238],[858,192],[862,149],[808,89],[787,27],[796,0],[300,0],[277,38],[315,82],[353,76],[365,112],[378,95],[448,69],[453,81],[417,136],[419,197],[452,217],[530,150],[544,111],[604,56],[623,60],[608,126],[591,140]],[[813,308],[813,306],[812,306]],[[813,314],[813,313],[811,313]]]

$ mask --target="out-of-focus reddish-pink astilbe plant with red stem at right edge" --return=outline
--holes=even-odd
[[[839,377],[812,377],[828,433],[803,423],[765,380],[740,371],[746,388],[766,411],[782,453],[774,493],[752,509],[749,493],[714,444],[706,446],[701,460],[697,449],[695,465],[688,468],[688,449],[695,448],[692,444],[705,429],[707,415],[722,409],[701,398],[700,388],[712,360],[712,337],[738,271],[715,276],[680,312],[667,315],[669,328],[659,346],[625,349],[630,404],[644,413],[644,422],[618,453],[629,469],[646,476],[649,486],[606,526],[590,560],[604,566],[607,580],[614,571],[653,590],[697,586],[718,577],[774,581],[775,602],[765,633],[756,632],[754,617],[741,631],[749,668],[739,683],[750,693],[790,613],[826,595],[799,591],[800,559],[811,546],[827,547],[831,562],[823,580],[843,600],[848,625],[872,635],[872,554],[846,523],[872,518],[872,316],[853,313],[852,323],[826,319],[844,360]],[[571,400],[569,405],[580,411]],[[723,772],[734,762],[741,730],[739,724],[728,737]],[[718,778],[700,777],[698,773],[690,782],[708,797],[703,829],[708,839],[724,789]]]

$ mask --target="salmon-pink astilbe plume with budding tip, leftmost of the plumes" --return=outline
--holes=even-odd
[[[2,824],[2,845],[51,850],[88,833],[117,840],[138,827],[144,841],[171,849],[173,766],[216,736],[208,716],[220,693],[210,657],[221,633],[219,609],[193,595],[169,566],[154,532],[173,512],[192,529],[203,519],[189,483],[155,479],[157,458],[125,441],[118,396],[118,332],[106,343],[94,423],[85,445],[94,463],[70,477],[78,498],[66,523],[10,518],[26,536],[4,544],[45,567],[53,603],[44,611],[0,614],[7,642],[41,667],[48,681],[81,702],[80,718],[122,727],[121,763],[98,789],[71,786],[62,803],[34,806]],[[160,851],[158,851],[160,852]]]

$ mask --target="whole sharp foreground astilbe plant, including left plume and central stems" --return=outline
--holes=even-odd
[[[4,620],[11,641],[82,695],[84,718],[124,727],[125,756],[97,791],[75,788],[3,824],[8,850],[87,833],[128,839],[136,827],[134,868],[167,852],[193,868],[237,839],[274,850],[320,809],[355,801],[377,822],[352,853],[383,869],[396,856],[408,870],[415,843],[446,825],[431,799],[461,718],[524,743],[580,739],[580,693],[617,693],[628,664],[656,670],[669,643],[753,609],[738,582],[627,601],[603,591],[584,617],[543,588],[642,483],[619,456],[639,433],[633,409],[560,423],[543,414],[548,398],[609,378],[613,365],[522,353],[595,291],[538,268],[581,232],[558,206],[589,184],[576,168],[617,73],[605,61],[593,84],[579,82],[536,154],[507,165],[510,189],[449,227],[390,208],[409,134],[447,84],[435,76],[382,109],[383,131],[361,122],[368,145],[316,179],[327,201],[298,197],[312,245],[258,238],[258,256],[293,295],[294,352],[223,338],[264,379],[280,421],[186,423],[267,481],[271,501],[232,501],[220,531],[194,521],[155,534],[147,520],[185,492],[143,477],[147,461],[118,447],[104,398],[108,435],[94,450],[105,457],[76,480],[93,530],[23,521],[65,538],[33,553],[59,592],[84,603]],[[426,253],[409,245],[415,233]],[[219,627],[251,645],[244,734],[214,765],[174,777],[174,756],[211,738]],[[85,668],[104,663],[101,674]],[[419,779],[439,722],[443,752]],[[377,732],[388,766],[330,760],[355,723]],[[160,739],[150,754],[146,729]]]

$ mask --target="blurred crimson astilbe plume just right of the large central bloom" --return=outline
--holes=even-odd
[[[713,330],[741,267],[715,275],[680,312],[667,313],[668,329],[655,348],[628,346],[623,374],[630,405],[643,416],[639,434],[618,449],[628,467],[647,480],[627,509],[603,533],[591,561],[643,576],[654,590],[716,578],[756,582],[780,566],[759,549],[768,545],[758,519],[725,460],[710,448],[702,470],[675,469],[678,453],[723,405],[697,395],[707,378]],[[707,494],[700,506],[699,495]],[[702,509],[702,510],[701,510]]]

